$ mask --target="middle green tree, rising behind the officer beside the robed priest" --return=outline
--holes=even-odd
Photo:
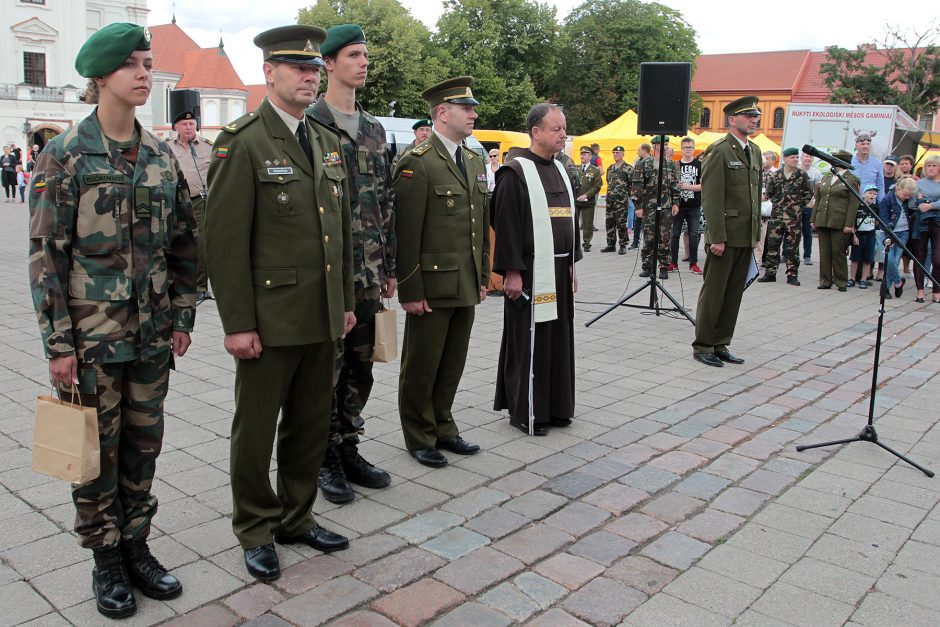
[[[533,0],[444,0],[432,40],[451,75],[474,77],[479,128],[525,129],[560,54],[555,14]]]

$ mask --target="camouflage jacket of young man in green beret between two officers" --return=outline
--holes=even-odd
[[[356,288],[395,276],[395,190],[391,184],[385,128],[357,102],[359,136],[337,126],[323,95],[307,113],[340,136],[352,208],[353,281]]]

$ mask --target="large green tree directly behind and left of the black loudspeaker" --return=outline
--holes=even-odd
[[[695,62],[695,30],[675,9],[640,0],[588,0],[564,26],[564,50],[549,95],[580,135],[635,109],[644,61]]]

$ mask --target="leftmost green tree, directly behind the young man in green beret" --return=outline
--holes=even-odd
[[[300,24],[330,28],[359,24],[369,48],[369,79],[356,97],[373,115],[427,116],[421,92],[443,80],[443,64],[431,49],[431,33],[398,0],[317,0],[301,9]],[[321,91],[326,89],[326,73]]]

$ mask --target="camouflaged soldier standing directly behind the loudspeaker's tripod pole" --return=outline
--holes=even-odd
[[[641,277],[648,277],[653,269],[653,247],[656,238],[659,238],[657,263],[659,264],[659,278],[669,278],[669,239],[672,235],[672,216],[679,212],[679,177],[676,165],[666,155],[665,170],[663,171],[662,195],[657,200],[656,192],[659,189],[659,151],[662,149],[662,135],[653,137],[653,156],[641,159],[633,170],[633,197],[637,199],[636,215],[643,218],[643,250],[640,256],[643,259]],[[656,210],[659,212],[659,233],[654,234],[656,228]]]

